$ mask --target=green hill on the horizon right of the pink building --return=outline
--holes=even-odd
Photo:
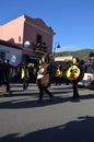
[[[82,49],[77,51],[61,51],[56,52],[56,57],[73,56],[78,57],[80,60],[87,61],[89,55],[94,51],[93,49]]]

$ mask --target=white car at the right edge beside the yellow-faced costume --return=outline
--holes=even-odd
[[[94,63],[84,63],[83,80],[78,83],[79,87],[89,87],[90,83],[94,80]]]

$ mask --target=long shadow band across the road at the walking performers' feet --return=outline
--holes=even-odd
[[[82,95],[80,96],[80,98],[78,99],[72,99],[71,96],[63,96],[63,95],[57,95],[54,96],[54,99],[50,100],[48,96],[45,96],[43,102],[38,102],[38,94],[37,93],[33,93],[32,98],[27,98],[27,97],[20,97],[20,98],[11,98],[8,99],[5,102],[1,102],[0,103],[0,109],[24,109],[24,108],[32,108],[32,107],[45,107],[48,105],[56,105],[56,104],[61,104],[61,103],[79,103],[82,99],[94,99],[94,94],[86,94],[86,95]],[[26,96],[26,94],[25,94]],[[33,99],[34,98],[34,99]]]

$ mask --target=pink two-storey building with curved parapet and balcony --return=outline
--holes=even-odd
[[[23,57],[40,57],[46,52],[52,56],[52,37],[55,33],[42,19],[22,15],[11,22],[0,25],[0,39],[22,47]],[[24,43],[28,40],[30,47]]]

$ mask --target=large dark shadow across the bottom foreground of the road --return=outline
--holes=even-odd
[[[23,137],[20,134],[5,135],[0,138],[0,142],[93,142],[94,117],[84,116],[62,126],[37,130]]]

